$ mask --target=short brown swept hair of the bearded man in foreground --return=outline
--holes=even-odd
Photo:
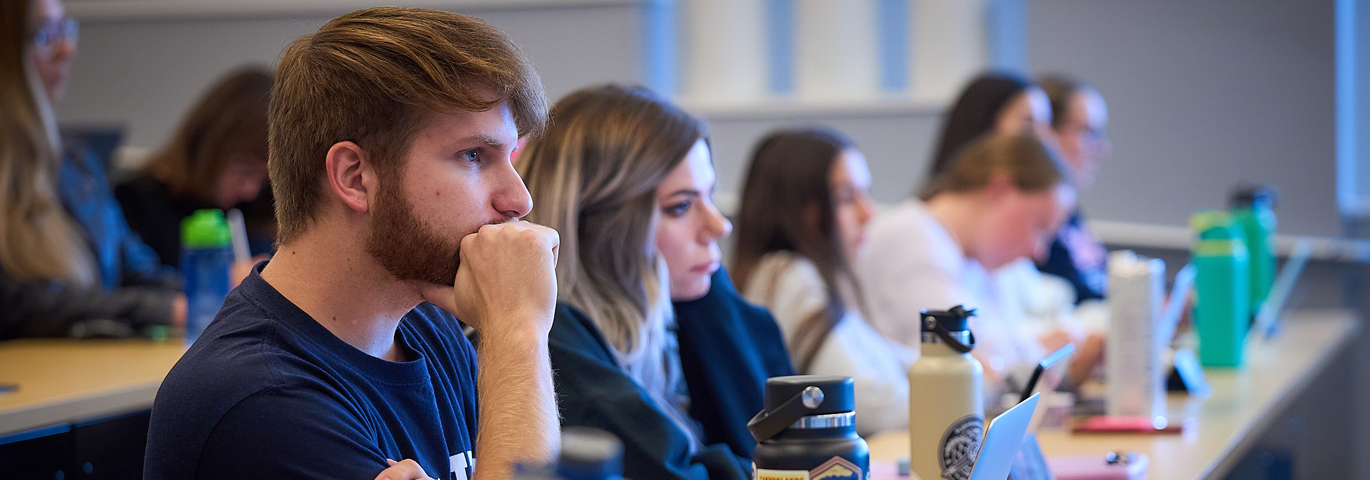
[[[532,62],[475,16],[367,8],[296,38],[281,53],[269,115],[277,240],[316,219],[333,144],[356,143],[382,177],[397,178],[425,115],[503,101],[521,137],[543,132],[547,96]]]

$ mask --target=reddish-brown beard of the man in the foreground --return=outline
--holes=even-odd
[[[371,211],[366,252],[399,280],[452,285],[460,265],[462,239],[448,240],[434,232],[414,214],[401,189],[400,185],[381,188]]]

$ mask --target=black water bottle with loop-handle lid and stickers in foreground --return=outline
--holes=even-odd
[[[747,428],[756,437],[756,480],[866,480],[870,448],[856,435],[851,377],[766,380],[766,410]]]

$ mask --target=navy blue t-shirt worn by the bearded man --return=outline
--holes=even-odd
[[[423,303],[395,340],[406,362],[344,343],[259,276],[158,389],[144,479],[371,480],[386,458],[464,480],[477,428],[475,351]]]

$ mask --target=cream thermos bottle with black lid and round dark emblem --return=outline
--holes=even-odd
[[[980,454],[985,399],[967,320],[974,310],[923,310],[922,355],[908,368],[908,466],[922,480],[966,480]]]

